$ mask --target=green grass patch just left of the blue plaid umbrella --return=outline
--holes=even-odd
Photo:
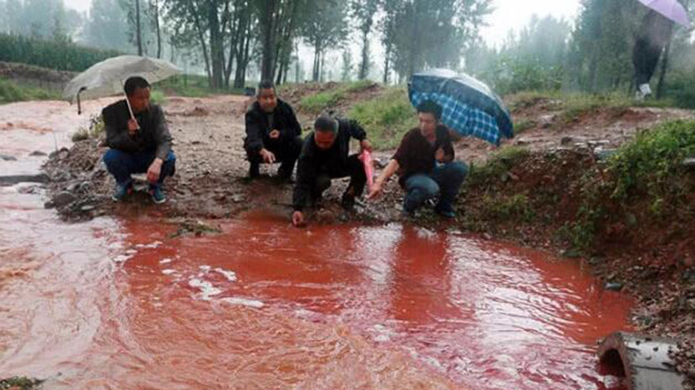
[[[381,96],[355,104],[348,117],[367,131],[375,149],[393,149],[403,135],[418,126],[416,112],[402,88],[391,88]]]

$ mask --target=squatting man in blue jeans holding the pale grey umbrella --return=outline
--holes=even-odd
[[[144,78],[129,78],[124,89],[127,101],[117,101],[101,112],[106,144],[111,148],[104,155],[104,164],[116,179],[111,197],[122,201],[133,190],[131,174],[147,172],[152,200],[164,203],[162,183],[174,174],[176,165],[164,112],[149,102],[150,87]]]

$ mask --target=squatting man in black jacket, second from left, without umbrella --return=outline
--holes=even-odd
[[[246,112],[244,149],[251,164],[250,178],[259,176],[261,162],[281,162],[277,176],[291,178],[302,150],[302,126],[292,107],[277,98],[272,81],[261,81],[256,102]]]

